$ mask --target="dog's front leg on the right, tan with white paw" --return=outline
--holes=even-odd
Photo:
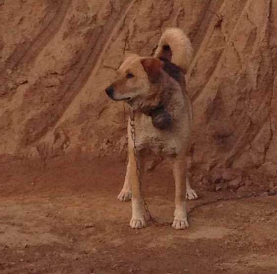
[[[175,211],[173,228],[185,229],[188,227],[186,212],[186,160],[185,155],[177,155],[173,159],[173,176],[175,180]]]

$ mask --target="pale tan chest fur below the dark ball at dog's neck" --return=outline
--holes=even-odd
[[[159,130],[152,124],[151,118],[143,116],[136,122],[136,147],[147,149],[155,154],[177,154],[181,148],[180,140],[171,131]]]

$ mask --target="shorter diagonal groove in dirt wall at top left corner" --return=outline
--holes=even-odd
[[[30,43],[26,45],[19,44],[5,62],[8,69],[14,69],[19,65],[27,64],[41,52],[41,50],[49,43],[49,41],[60,30],[62,23],[66,17],[71,0],[60,1],[61,4],[53,12],[53,6],[47,8],[45,17],[42,19],[42,31]],[[49,12],[48,12],[49,10]]]

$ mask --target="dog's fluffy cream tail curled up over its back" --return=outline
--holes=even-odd
[[[187,71],[193,57],[190,39],[178,28],[163,32],[154,57],[163,57]]]

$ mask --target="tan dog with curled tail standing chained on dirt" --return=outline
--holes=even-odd
[[[121,201],[132,199],[132,228],[145,227],[149,218],[137,171],[137,166],[143,169],[145,155],[149,152],[171,159],[175,181],[172,226],[175,229],[189,226],[186,198],[196,199],[197,194],[186,176],[193,113],[184,76],[192,56],[191,42],[185,33],[178,28],[167,29],[153,57],[130,55],[119,67],[115,81],[105,89],[110,99],[127,102],[134,115],[134,120],[128,119],[128,164],[118,195]],[[133,136],[132,130],[135,130]]]

